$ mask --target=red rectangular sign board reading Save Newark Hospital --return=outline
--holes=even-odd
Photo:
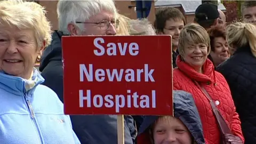
[[[170,36],[63,36],[67,115],[172,115]]]

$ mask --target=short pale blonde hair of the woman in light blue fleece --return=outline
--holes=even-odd
[[[44,7],[22,0],[0,1],[0,25],[16,26],[19,29],[33,29],[37,48],[45,42],[50,45],[51,24],[46,18]]]

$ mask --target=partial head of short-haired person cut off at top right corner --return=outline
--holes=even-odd
[[[256,1],[244,1],[241,5],[243,21],[256,25]]]

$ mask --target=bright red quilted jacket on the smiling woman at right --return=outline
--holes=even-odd
[[[206,143],[219,144],[220,130],[209,100],[194,81],[201,83],[213,100],[219,101],[219,103],[215,103],[219,104],[217,108],[220,110],[221,115],[234,135],[244,141],[241,122],[236,113],[229,86],[225,78],[214,70],[213,63],[209,59],[205,61],[203,65],[204,74],[198,73],[187,63],[183,62],[180,55],[177,57],[176,63],[178,68],[173,70],[173,90],[183,90],[193,94],[201,117]]]

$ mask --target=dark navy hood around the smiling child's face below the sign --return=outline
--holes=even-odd
[[[174,117],[179,118],[193,135],[197,144],[203,144],[203,126],[193,96],[185,91],[173,91]],[[159,116],[145,116],[137,136],[138,144],[150,144],[148,128]]]

